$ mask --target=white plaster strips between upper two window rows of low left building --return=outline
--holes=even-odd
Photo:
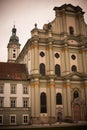
[[[0,95],[1,97],[4,97],[4,107],[10,107],[10,97],[16,97],[16,107],[23,107],[23,97],[29,98],[29,106],[30,103],[30,86],[29,87],[29,93],[23,94],[23,85],[17,84],[16,86],[16,94],[10,93],[10,83],[4,84],[4,94]]]

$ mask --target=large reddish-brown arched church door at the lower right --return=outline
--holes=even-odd
[[[74,105],[73,112],[74,112],[74,120],[75,121],[81,120],[81,107],[79,104]]]

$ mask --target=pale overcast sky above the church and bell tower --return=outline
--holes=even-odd
[[[14,24],[22,49],[34,24],[42,29],[55,18],[53,8],[65,3],[80,6],[87,23],[87,0],[0,0],[0,62],[7,61],[7,44]]]

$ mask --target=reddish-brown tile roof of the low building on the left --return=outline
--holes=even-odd
[[[28,71],[25,64],[0,62],[0,79],[27,80]]]

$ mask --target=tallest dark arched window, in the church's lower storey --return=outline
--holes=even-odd
[[[42,92],[40,95],[40,112],[47,113],[46,93]]]

